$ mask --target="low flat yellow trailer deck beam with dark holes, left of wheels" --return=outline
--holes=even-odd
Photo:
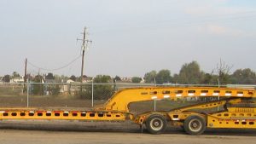
[[[124,112],[94,112],[94,111],[47,111],[11,109],[0,112],[0,119],[63,119],[63,120],[102,120],[124,121],[129,117]]]

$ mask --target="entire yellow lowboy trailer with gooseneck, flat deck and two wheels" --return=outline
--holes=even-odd
[[[186,97],[219,97],[218,101],[204,102],[189,107],[179,107],[166,112],[145,112],[135,115],[129,104]],[[201,135],[206,128],[255,129],[255,89],[216,87],[152,87],[123,89],[116,92],[103,107],[93,110],[52,110],[39,108],[1,108],[0,119],[63,119],[125,121],[133,120],[149,133],[160,134],[168,124],[181,126],[190,135]],[[221,111],[199,112],[214,107]],[[217,108],[216,108],[217,109]]]

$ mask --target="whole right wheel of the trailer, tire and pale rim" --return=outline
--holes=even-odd
[[[183,126],[189,135],[201,135],[207,128],[206,120],[200,116],[189,116]]]

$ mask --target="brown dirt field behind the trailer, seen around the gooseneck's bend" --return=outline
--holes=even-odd
[[[5,107],[26,107],[26,96],[0,96],[0,108]],[[102,107],[107,100],[94,100],[94,107]],[[194,104],[193,101],[189,103],[183,103],[182,101],[156,101],[156,110],[165,111],[172,108],[182,107],[190,104]],[[70,109],[92,109],[92,101],[88,99],[81,99],[79,97],[68,97],[68,96],[29,96],[29,107],[39,107],[43,109],[47,108],[70,108]],[[131,103],[130,112],[134,114],[154,111],[154,101],[140,101]]]

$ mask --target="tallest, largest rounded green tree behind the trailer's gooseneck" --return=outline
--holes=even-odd
[[[179,74],[179,84],[200,84],[202,78],[202,72],[200,66],[196,61],[192,61],[189,64],[185,63]]]

